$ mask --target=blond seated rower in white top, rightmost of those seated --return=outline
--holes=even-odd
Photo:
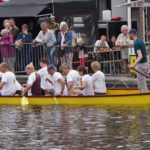
[[[100,71],[100,63],[95,61],[91,64],[92,70],[94,72],[92,76],[93,86],[95,95],[106,94],[106,82],[105,74]]]

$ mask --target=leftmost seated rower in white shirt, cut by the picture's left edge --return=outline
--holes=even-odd
[[[0,71],[3,73],[0,83],[1,95],[14,96],[16,93],[15,74],[9,70],[9,66],[5,62],[0,64]]]

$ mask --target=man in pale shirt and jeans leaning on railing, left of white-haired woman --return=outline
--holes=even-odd
[[[39,32],[38,36],[35,38],[34,43],[35,42],[41,43],[49,49],[49,61],[51,64],[54,64],[54,54],[55,54],[56,48],[53,46],[56,43],[56,37],[54,33],[48,29],[47,22],[41,23],[41,29],[42,30]]]

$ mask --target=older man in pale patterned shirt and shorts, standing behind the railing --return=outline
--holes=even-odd
[[[123,59],[123,70],[125,73],[128,73],[128,58],[129,58],[129,46],[130,46],[130,37],[128,34],[128,26],[123,25],[121,27],[121,34],[118,36],[116,41],[116,46],[120,48],[121,55]]]

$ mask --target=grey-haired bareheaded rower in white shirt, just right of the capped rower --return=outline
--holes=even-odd
[[[67,76],[67,88],[69,95],[74,95],[74,90],[77,86],[80,86],[80,75],[78,71],[72,70],[67,64],[61,66],[63,75]]]

